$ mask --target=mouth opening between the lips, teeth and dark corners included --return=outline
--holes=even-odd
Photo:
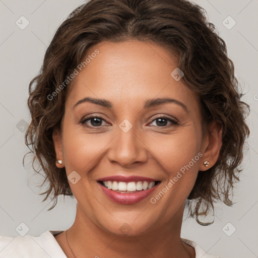
[[[160,181],[132,181],[132,182],[118,182],[118,181],[98,181],[101,185],[109,190],[113,190],[120,193],[133,193],[151,189]]]

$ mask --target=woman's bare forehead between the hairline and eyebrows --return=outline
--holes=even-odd
[[[98,54],[96,53],[96,50]],[[118,43],[101,42],[88,50],[87,65],[71,85],[69,102],[92,96],[108,99],[121,106],[142,103],[155,97],[171,97],[197,106],[198,96],[171,72],[177,68],[177,57],[166,48],[138,40]]]

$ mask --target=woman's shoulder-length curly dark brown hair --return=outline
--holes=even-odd
[[[222,124],[219,158],[206,172],[198,172],[186,202],[188,214],[200,223],[198,217],[214,212],[216,201],[232,205],[230,196],[233,184],[239,181],[239,165],[250,133],[245,123],[250,108],[241,101],[243,94],[224,40],[207,21],[205,10],[186,0],[91,0],[60,25],[46,50],[39,75],[29,85],[32,120],[25,142],[34,153],[34,170],[43,170],[46,175],[41,186],[49,183],[40,194],[47,193],[45,201],[53,191],[51,200],[55,202],[48,210],[55,207],[58,195],[73,196],[65,168],[55,165],[52,140],[54,130],[60,130],[71,88],[71,83],[62,90],[60,85],[84,60],[90,47],[102,41],[128,39],[154,42],[176,53],[178,67],[184,73],[183,83],[201,97],[203,128],[212,120]],[[39,162],[38,168],[35,161]]]

